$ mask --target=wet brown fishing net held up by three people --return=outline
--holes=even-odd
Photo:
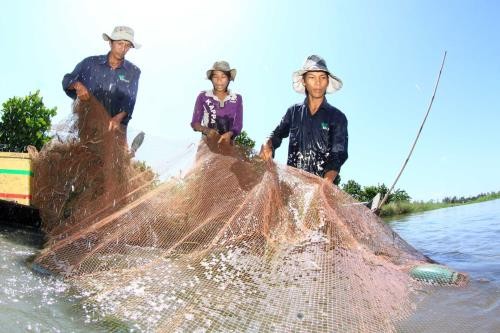
[[[158,183],[95,100],[75,114],[32,153],[35,264],[110,331],[398,332],[429,282],[458,284],[412,278],[430,260],[316,176],[202,140],[185,176]]]

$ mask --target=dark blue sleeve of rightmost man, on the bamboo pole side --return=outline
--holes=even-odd
[[[347,144],[349,136],[347,134],[347,118],[341,114],[330,125],[330,152],[325,163],[325,172],[330,170],[340,171],[340,168],[347,160]]]

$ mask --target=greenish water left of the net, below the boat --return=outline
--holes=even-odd
[[[85,322],[66,283],[30,270],[41,242],[37,233],[0,228],[0,331],[103,332]]]

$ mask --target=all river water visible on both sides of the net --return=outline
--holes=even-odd
[[[439,209],[390,222],[434,260],[466,272],[465,288],[436,287],[418,303],[402,332],[500,332],[500,200]],[[41,236],[0,227],[0,331],[104,332],[58,278],[27,262]]]

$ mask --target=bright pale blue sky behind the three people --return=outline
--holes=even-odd
[[[71,115],[61,88],[83,58],[106,54],[102,39],[129,25],[142,74],[129,137],[146,133],[137,158],[160,173],[192,163],[190,128],[205,72],[237,69],[243,128],[264,142],[286,109],[304,99],[292,72],[318,54],[344,83],[327,95],[349,122],[342,182],[390,186],[438,91],[396,188],[414,200],[500,191],[500,2],[495,0],[2,1],[0,102],[40,90],[54,122]],[[286,163],[288,142],[276,161]]]

